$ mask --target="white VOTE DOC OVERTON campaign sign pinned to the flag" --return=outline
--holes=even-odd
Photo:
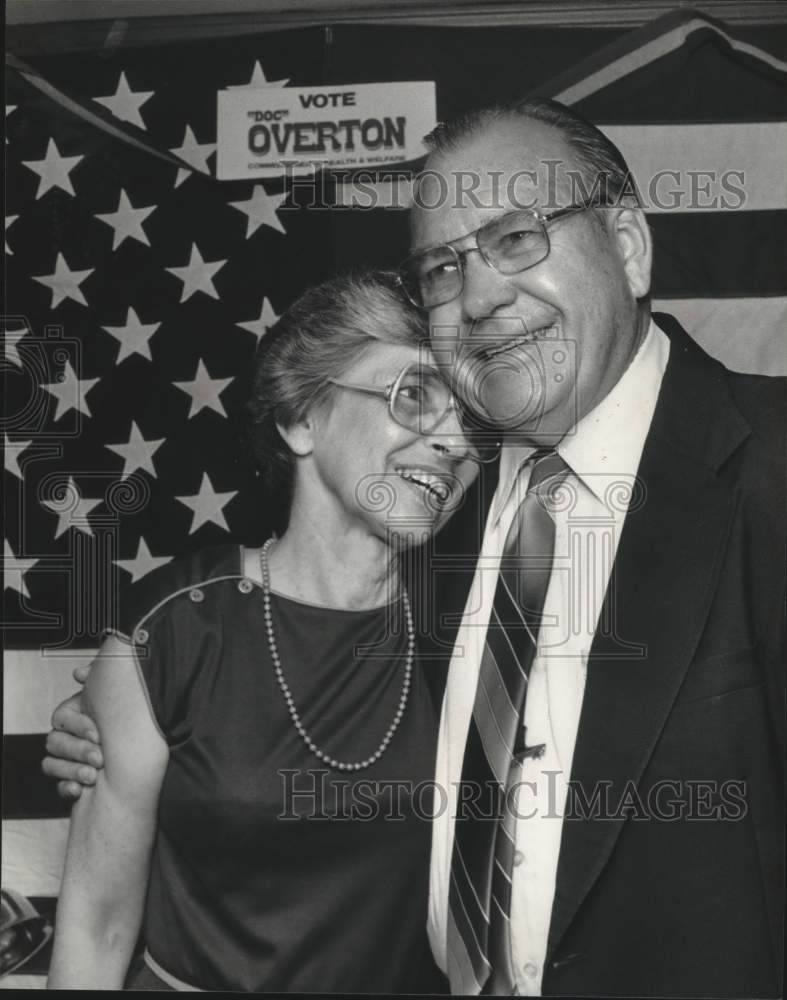
[[[217,176],[402,163],[426,152],[435,124],[434,81],[221,90]]]

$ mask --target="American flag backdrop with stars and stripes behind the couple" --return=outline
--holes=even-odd
[[[365,210],[351,175],[333,208],[284,180],[217,181],[216,92],[434,80],[441,118],[573,104],[644,188],[656,307],[730,367],[786,374],[787,26],[684,9],[634,31],[206,28],[71,52],[47,30],[18,51],[11,34],[6,90],[2,879],[51,914],[68,809],[40,759],[73,667],[129,583],[265,537],[240,443],[257,343],[308,285],[407,249],[384,175]],[[0,986],[42,986],[47,962]]]

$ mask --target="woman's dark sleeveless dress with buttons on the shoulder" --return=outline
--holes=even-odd
[[[241,569],[237,547],[205,550],[151,574],[123,614],[170,748],[146,947],[203,990],[442,992],[426,937],[436,714],[418,662],[387,752],[329,770],[295,731]],[[272,613],[307,732],[338,760],[370,756],[402,691],[400,605],[274,594]]]

